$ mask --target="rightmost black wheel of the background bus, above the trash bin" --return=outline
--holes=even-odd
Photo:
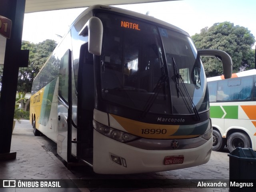
[[[235,148],[248,148],[250,147],[250,138],[244,133],[232,133],[228,137],[228,150],[232,152]]]

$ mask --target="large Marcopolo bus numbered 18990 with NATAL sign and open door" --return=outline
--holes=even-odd
[[[68,163],[101,174],[157,172],[208,162],[212,126],[200,56],[183,30],[156,18],[96,5],[86,9],[32,85],[35,135]],[[225,68],[226,67],[226,68]]]

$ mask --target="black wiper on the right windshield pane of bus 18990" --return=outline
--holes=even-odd
[[[191,103],[191,105],[192,105],[192,109],[193,109],[193,111],[194,111],[194,114],[196,115],[196,120],[199,121],[199,120],[200,120],[200,116],[199,116],[199,113],[198,113],[198,111],[197,111],[197,109],[196,109],[196,105],[195,105],[194,102],[192,101],[192,98],[190,97],[190,95],[189,95],[189,93],[188,93],[188,90],[187,90],[187,88],[186,88],[186,85],[185,85],[185,83],[184,83],[184,81],[183,81],[183,79],[182,79],[180,73],[178,73],[178,71],[177,71],[177,65],[176,65],[176,63],[175,63],[175,61],[174,61],[174,57],[172,57],[172,61],[173,61],[173,67],[174,67],[174,72],[175,72],[175,77],[174,77],[173,79],[174,79],[174,81],[176,82],[177,95],[178,95],[178,97],[179,97],[179,92],[180,92],[179,80],[180,80],[180,82],[181,82],[181,84],[182,84],[182,87],[183,87],[183,89],[185,90],[186,95],[187,95],[187,97],[188,97],[188,100],[190,101],[190,103]]]

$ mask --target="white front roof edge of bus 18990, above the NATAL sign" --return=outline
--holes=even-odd
[[[162,20],[156,19],[152,16],[147,16],[145,14],[141,14],[141,13],[137,13],[134,11],[130,11],[130,10],[126,10],[126,9],[122,9],[122,8],[117,8],[117,7],[113,7],[113,6],[106,6],[106,5],[94,5],[94,6],[90,6],[89,8],[87,8],[86,10],[84,10],[77,18],[76,20],[74,20],[74,22],[72,23],[72,25],[70,26],[70,29],[74,26],[74,24],[76,24],[76,22],[78,22],[85,14],[87,14],[88,12],[90,12],[91,10],[94,9],[98,9],[98,10],[104,10],[104,11],[110,11],[110,12],[116,12],[116,13],[121,13],[121,14],[126,14],[128,16],[132,16],[132,17],[136,17],[136,18],[140,18],[142,20],[146,20],[146,21],[150,21],[150,22],[155,22],[157,24],[160,24],[162,26],[166,26],[168,28],[171,28],[172,30],[175,30],[177,32],[180,32],[188,37],[189,34],[187,32],[185,32],[184,30],[169,24],[167,22],[164,22]]]

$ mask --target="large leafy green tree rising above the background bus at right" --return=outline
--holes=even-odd
[[[197,49],[226,51],[233,61],[233,73],[254,69],[255,50],[252,46],[255,39],[247,28],[234,26],[230,22],[216,23],[191,38]],[[222,75],[222,63],[218,59],[204,57],[202,60],[207,77]]]

